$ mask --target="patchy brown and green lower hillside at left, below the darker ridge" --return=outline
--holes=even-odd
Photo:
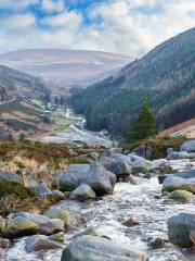
[[[31,100],[17,97],[0,102],[0,140],[31,137],[48,130],[50,117]]]

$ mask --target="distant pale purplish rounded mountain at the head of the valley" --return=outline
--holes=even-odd
[[[130,61],[132,59],[119,54],[63,49],[27,49],[0,54],[0,64],[41,76],[66,89],[91,85]]]

